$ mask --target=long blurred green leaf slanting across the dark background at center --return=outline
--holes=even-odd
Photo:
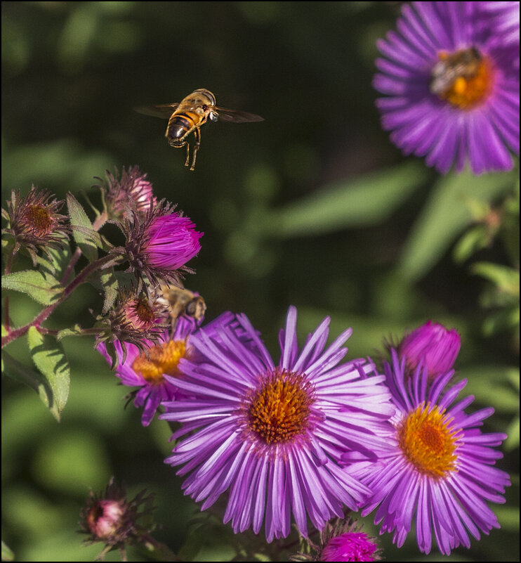
[[[275,209],[265,228],[282,238],[331,233],[383,221],[425,181],[426,171],[416,162],[335,183]]]

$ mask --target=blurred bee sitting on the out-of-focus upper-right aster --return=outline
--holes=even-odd
[[[470,47],[456,51],[452,55],[440,53],[440,60],[430,74],[430,91],[440,95],[454,86],[459,78],[470,79],[477,75],[482,56],[477,48]]]

